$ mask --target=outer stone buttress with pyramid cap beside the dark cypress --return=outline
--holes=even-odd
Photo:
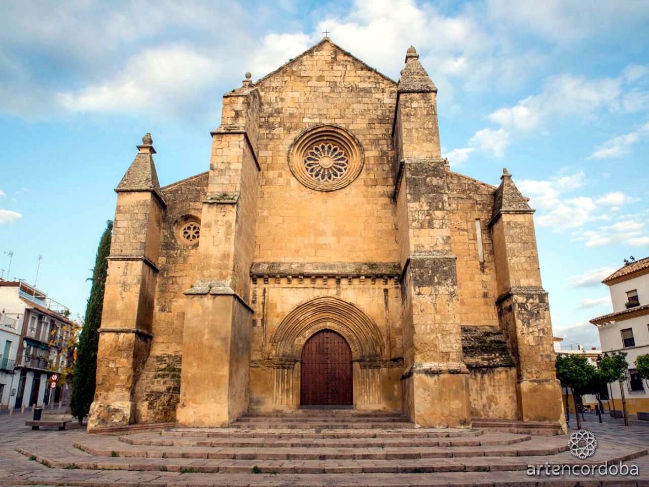
[[[97,388],[88,429],[135,421],[134,388],[151,347],[165,201],[153,163],[151,134],[119,182],[104,308],[99,329]]]

